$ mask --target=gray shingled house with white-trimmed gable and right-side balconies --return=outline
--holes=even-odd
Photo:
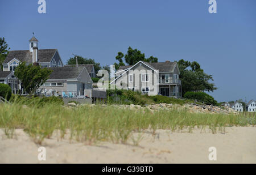
[[[148,63],[139,61],[133,66],[120,66],[111,82],[122,89],[140,91],[147,95],[181,97],[181,81],[176,62]]]

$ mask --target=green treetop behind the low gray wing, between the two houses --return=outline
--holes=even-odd
[[[94,70],[96,74],[98,73],[99,70],[101,70],[100,63],[96,63],[94,59],[91,58],[84,58],[81,56],[74,56],[68,59],[67,65],[76,65],[76,57],[77,57],[77,63],[79,65],[89,65],[92,64],[94,66]]]

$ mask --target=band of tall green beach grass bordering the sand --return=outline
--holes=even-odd
[[[55,131],[60,133],[60,139],[68,134],[69,139],[88,144],[98,141],[125,144],[132,139],[138,145],[141,137],[133,138],[133,133],[150,131],[154,134],[158,129],[187,129],[192,132],[193,128],[203,131],[208,127],[215,134],[225,132],[225,127],[256,125],[256,115],[251,113],[196,114],[177,109],[152,113],[148,109],[119,109],[111,105],[68,108],[53,102],[41,107],[21,103],[2,104],[0,115],[0,128],[9,138],[13,137],[15,129],[23,129],[37,144],[51,138]]]

